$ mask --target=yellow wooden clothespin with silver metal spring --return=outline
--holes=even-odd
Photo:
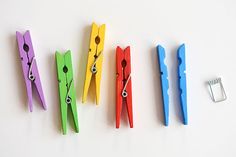
[[[87,99],[89,85],[92,76],[95,77],[96,88],[96,104],[99,104],[100,98],[100,82],[102,74],[102,60],[103,60],[103,48],[105,39],[105,24],[98,27],[95,23],[92,24],[92,32],[90,37],[90,48],[88,53],[88,62],[86,68],[86,78],[84,82],[84,91],[82,102]]]

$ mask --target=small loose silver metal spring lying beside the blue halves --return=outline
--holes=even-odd
[[[221,98],[216,99],[215,97],[215,92],[213,91],[213,86],[219,84],[220,85],[220,90],[221,90]],[[211,94],[211,98],[214,102],[221,102],[227,99],[226,93],[225,93],[225,89],[223,87],[221,78],[216,78],[214,80],[210,80],[208,81],[208,85],[210,87],[210,94]]]

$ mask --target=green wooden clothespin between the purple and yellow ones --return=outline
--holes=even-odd
[[[70,107],[75,125],[75,131],[78,133],[79,124],[73,80],[71,51],[67,51],[64,55],[56,52],[56,64],[61,107],[62,131],[63,134],[66,134],[67,111],[68,107]]]

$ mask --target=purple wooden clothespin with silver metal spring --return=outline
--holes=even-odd
[[[35,85],[41,104],[44,110],[46,110],[47,107],[45,104],[43,89],[39,77],[30,32],[26,31],[24,35],[22,35],[20,32],[16,32],[16,39],[21,58],[22,70],[25,78],[29,110],[30,112],[33,111],[32,85]]]

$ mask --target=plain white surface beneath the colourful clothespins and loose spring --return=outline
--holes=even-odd
[[[0,0],[0,156],[236,156],[236,1]],[[81,103],[91,23],[107,26],[101,101]],[[15,32],[31,31],[48,106],[26,89]],[[181,122],[176,50],[186,44],[189,125]],[[170,125],[163,125],[155,47],[166,48]],[[115,129],[115,48],[131,46],[134,128]],[[70,49],[80,133],[61,133],[54,54]],[[206,81],[222,77],[227,101]]]

